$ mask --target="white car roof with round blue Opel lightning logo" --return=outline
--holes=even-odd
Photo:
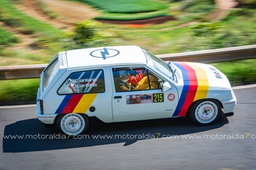
[[[129,64],[145,65],[147,63],[144,50],[135,45],[62,51],[58,53],[58,58],[59,60],[64,58],[66,60],[66,62],[59,61],[60,67],[62,64],[62,68]]]

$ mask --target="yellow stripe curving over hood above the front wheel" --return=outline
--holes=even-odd
[[[200,68],[196,63],[186,63],[195,70],[196,78],[198,80],[198,90],[196,91],[194,101],[205,99],[209,90],[209,81],[204,69]]]

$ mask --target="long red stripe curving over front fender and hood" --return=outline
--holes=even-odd
[[[196,90],[198,89],[198,80],[196,78],[194,69],[192,69],[188,64],[185,64],[183,62],[179,64],[188,71],[188,79],[189,79],[188,93],[186,94],[186,99],[178,115],[178,116],[185,116],[186,112],[189,109],[189,106],[193,103],[195,99]]]

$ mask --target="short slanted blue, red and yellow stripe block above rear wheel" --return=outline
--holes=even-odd
[[[97,94],[66,95],[55,114],[85,114],[96,96]]]

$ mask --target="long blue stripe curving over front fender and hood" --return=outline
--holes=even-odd
[[[174,111],[174,114],[172,117],[176,117],[179,115],[180,109],[182,108],[185,99],[186,99],[186,95],[188,94],[188,90],[189,90],[189,81],[188,80],[188,71],[186,69],[183,68],[183,66],[181,66],[180,64],[176,63],[176,62],[171,62],[173,63],[175,66],[177,66],[182,73],[183,76],[183,80],[184,80],[184,85],[183,85],[183,89],[180,95],[180,100],[178,102],[178,105],[176,106],[176,109]]]

